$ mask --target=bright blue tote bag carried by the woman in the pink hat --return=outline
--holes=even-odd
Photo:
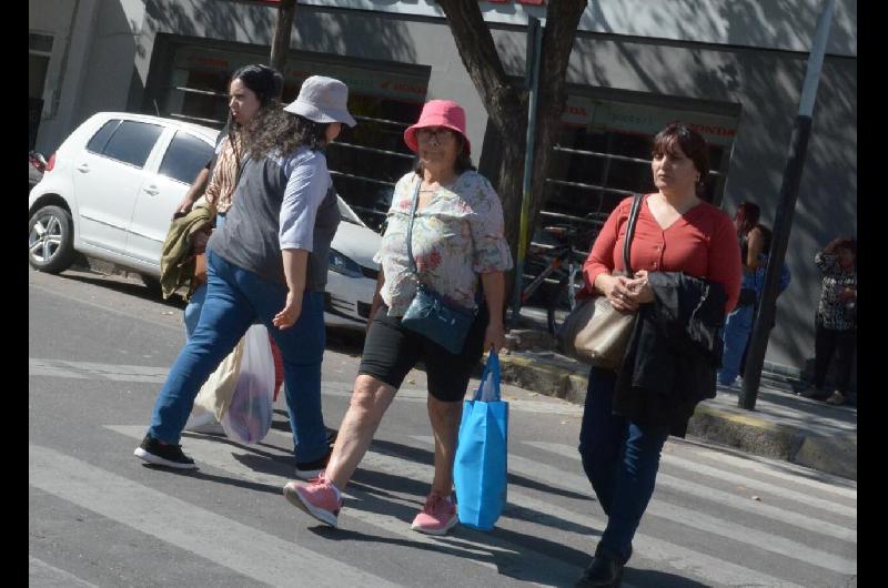
[[[500,399],[500,361],[491,351],[463,422],[453,466],[460,523],[491,530],[506,506],[508,403]]]

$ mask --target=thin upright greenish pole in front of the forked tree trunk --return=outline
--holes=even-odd
[[[539,51],[543,44],[543,29],[539,19],[527,17],[527,90],[529,100],[527,105],[527,136],[524,152],[524,183],[521,199],[521,222],[518,230],[518,258],[515,264],[515,296],[512,303],[512,320],[509,327],[514,328],[521,312],[521,291],[524,282],[524,257],[527,251],[527,224],[531,209],[531,180],[534,169],[534,135],[536,131],[536,101],[539,85]]]

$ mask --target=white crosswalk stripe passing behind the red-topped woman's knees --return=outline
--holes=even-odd
[[[538,449],[543,449],[549,453],[554,453],[581,462],[578,457],[579,454],[577,454],[575,449],[566,445],[559,445],[554,443],[539,443],[539,442],[523,442],[523,443],[525,445],[529,445]],[[664,455],[663,457],[666,456]],[[844,541],[850,541],[857,544],[856,529],[844,527],[841,525],[836,525],[834,523],[829,523],[826,520],[818,520],[811,518],[808,515],[796,513],[794,510],[789,510],[784,507],[771,506],[761,501],[755,504],[740,503],[739,499],[741,497],[736,494],[719,490],[716,488],[710,488],[709,486],[697,484],[687,480],[685,478],[670,476],[663,470],[660,470],[659,474],[657,474],[657,487],[670,488],[678,493],[695,496],[704,500],[709,500],[728,508],[741,510],[744,513],[751,511],[757,515],[766,516],[774,520],[780,520],[783,523],[788,523],[789,525],[795,525],[796,527],[810,530],[819,535],[836,537],[837,539],[841,539]]]

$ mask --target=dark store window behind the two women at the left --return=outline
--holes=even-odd
[[[250,63],[265,63],[268,48],[226,43],[182,43],[161,38],[145,110],[162,116],[221,128],[228,119],[231,74]],[[364,62],[291,52],[284,71],[283,101],[299,94],[310,75],[329,75],[349,85],[349,110],[357,120],[327,149],[327,165],[340,195],[371,227],[380,230],[394,184],[413,164],[402,139],[425,102],[431,69]]]

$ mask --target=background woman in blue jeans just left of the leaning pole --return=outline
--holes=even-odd
[[[743,373],[756,310],[765,290],[765,270],[770,254],[771,232],[758,222],[759,216],[758,204],[753,202],[741,202],[734,216],[740,244],[743,281],[737,306],[725,321],[723,335],[725,347],[722,354],[722,368],[718,371],[718,383],[723,386],[734,386],[737,376]],[[780,268],[780,292],[788,285],[789,270],[784,264]]]

